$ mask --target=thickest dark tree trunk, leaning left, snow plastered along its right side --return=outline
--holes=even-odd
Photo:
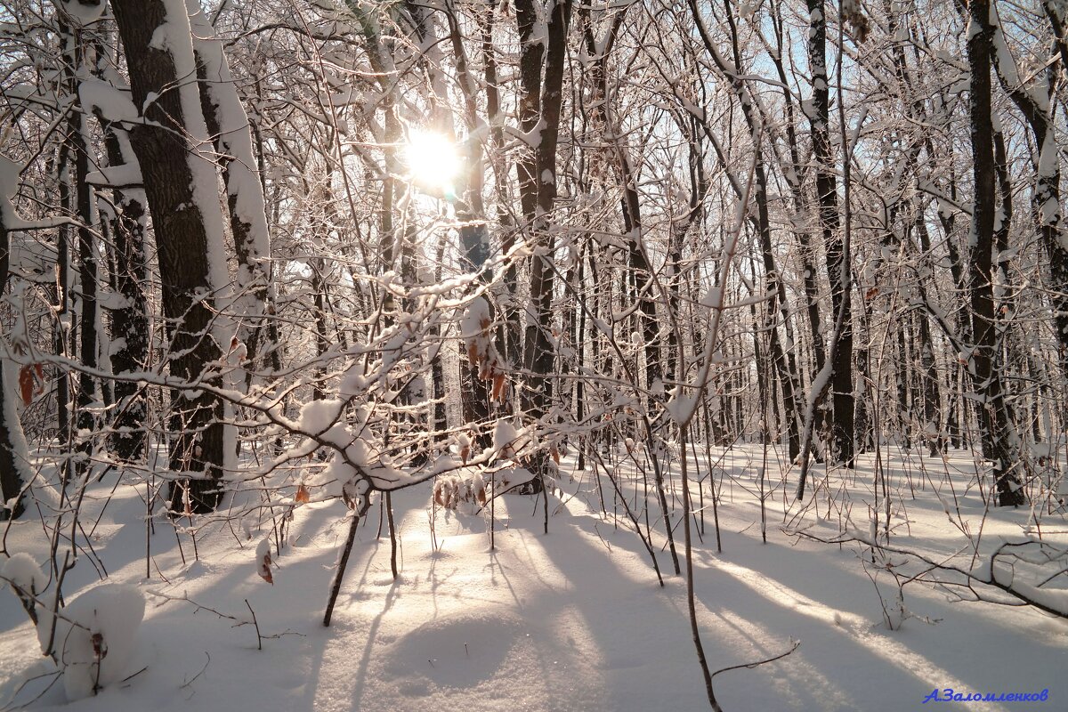
[[[211,244],[219,247],[222,235],[208,232],[202,209],[210,207],[195,202],[190,164],[202,158],[194,144],[197,137],[190,137],[189,127],[193,118],[203,122],[203,117],[186,115],[187,110],[199,110],[198,105],[190,106],[192,102],[183,101],[180,96],[182,85],[190,77],[179,76],[174,56],[169,49],[158,47],[153,38],[166,23],[163,31],[169,42],[188,43],[191,54],[189,20],[184,13],[168,16],[169,5],[162,0],[113,0],[111,4],[126,52],[134,102],[144,107],[146,120],[131,127],[130,143],[141,164],[155,228],[171,375],[187,382],[207,378],[218,386],[220,380],[206,373],[209,364],[222,355],[210,333],[215,312],[213,289],[221,285],[211,284],[208,251]],[[189,67],[190,74],[194,72]],[[150,94],[152,101],[147,100]],[[214,188],[213,185],[213,192]],[[190,475],[172,482],[172,511],[206,512],[218,505],[223,463],[222,414],[222,401],[209,393],[171,391],[170,469]]]

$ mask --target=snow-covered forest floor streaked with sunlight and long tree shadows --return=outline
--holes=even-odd
[[[776,662],[717,676],[724,710],[927,709],[924,699],[946,687],[964,694],[1049,692],[1045,702],[933,707],[1068,710],[1068,620],[1031,607],[953,600],[954,589],[916,581],[905,586],[904,620],[891,612],[897,630],[890,630],[884,604],[893,610],[897,587],[870,565],[869,549],[783,531],[785,523],[833,537],[851,507],[854,524],[867,534],[873,456],[862,457],[845,479],[842,472],[828,480],[817,471],[814,504],[797,517],[782,482],[766,482],[767,543],[760,537],[755,474],[763,457],[754,445],[711,450],[712,475],[722,481],[722,552],[717,553],[707,506],[703,541],[695,522],[693,556],[701,634],[712,670],[771,658],[789,650],[791,640],[801,646]],[[943,460],[884,452],[882,461],[895,547],[939,560],[967,550],[955,560],[969,568],[965,532],[974,539],[981,525],[980,549],[988,552],[1036,528],[1032,510],[988,511],[970,454]],[[619,464],[628,496],[639,490],[644,495],[637,464]],[[704,450],[700,462],[690,464],[693,479],[704,478],[706,505],[708,465]],[[769,465],[772,470],[779,480],[778,468]],[[671,555],[660,549],[663,525],[651,493],[647,511],[663,587],[623,509],[613,506],[607,477],[598,489],[592,471],[575,471],[574,455],[563,471],[561,490],[549,497],[549,534],[543,533],[540,496],[505,495],[497,501],[492,551],[488,516],[434,507],[429,484],[394,493],[400,539],[396,581],[390,539],[384,524],[378,536],[378,507],[373,507],[359,528],[330,628],[323,627],[323,613],[348,528],[341,504],[296,509],[272,585],[257,575],[254,554],[270,535],[269,512],[245,522],[251,539],[238,522],[203,529],[197,560],[188,534],[176,537],[166,521],[157,522],[146,579],[143,487],[117,487],[92,527],[104,495],[115,486],[112,475],[94,486],[99,499],[91,500],[83,521],[109,581],[132,584],[145,596],[128,670],[137,674],[69,706],[62,684],[41,694],[50,677],[18,691],[22,681],[54,666],[40,654],[17,600],[4,594],[0,705],[79,712],[707,709],[685,580],[673,574]],[[796,479],[790,473],[790,494]],[[677,477],[673,480],[677,490]],[[681,494],[668,496],[681,556]],[[1063,543],[1064,513],[1040,513],[1043,535]],[[640,517],[644,527],[644,512]],[[28,516],[15,524],[6,547],[44,564],[48,549],[40,520]],[[905,556],[893,561],[901,570],[923,570]],[[98,581],[92,563],[81,560],[65,591],[73,597]],[[204,608],[174,600],[183,597]],[[251,619],[246,601],[266,636],[262,650],[253,626],[235,627],[235,620]]]

